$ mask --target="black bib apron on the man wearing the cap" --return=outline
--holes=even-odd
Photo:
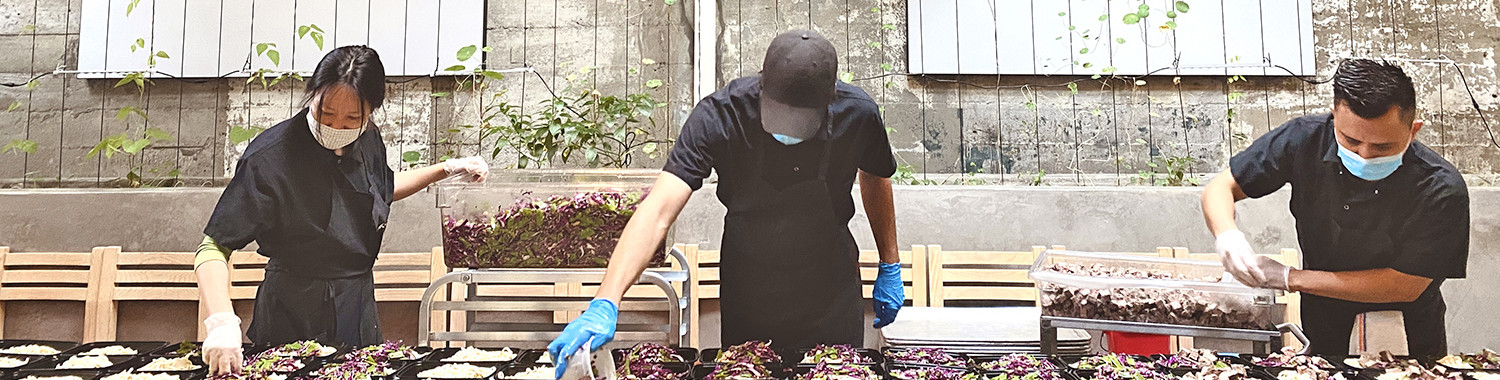
[[[748,176],[732,183],[720,264],[724,347],[770,339],[786,353],[864,342],[860,251],[834,218],[826,185],[834,141],[824,143],[816,180],[772,186],[762,177],[762,144]]]

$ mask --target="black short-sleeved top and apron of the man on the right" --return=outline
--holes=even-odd
[[[1251,198],[1292,183],[1292,215],[1304,269],[1348,272],[1389,267],[1431,278],[1414,302],[1360,303],[1302,296],[1312,351],[1346,354],[1354,315],[1402,311],[1408,351],[1440,356],[1446,347],[1442,284],[1464,278],[1468,260],[1468,189],[1436,152],[1413,141],[1401,167],[1368,182],[1344,170],[1330,114],[1304,116],[1256,140],[1230,159]]]

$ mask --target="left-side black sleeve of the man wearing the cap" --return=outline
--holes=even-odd
[[[702,101],[687,116],[682,132],[672,146],[662,171],[672,173],[694,191],[704,186],[704,179],[714,171],[714,153],[728,138],[717,107]]]

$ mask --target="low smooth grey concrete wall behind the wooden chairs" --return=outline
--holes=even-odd
[[[723,206],[714,186],[693,195],[678,218],[675,242],[718,245]],[[219,189],[141,191],[0,191],[0,246],[12,251],[87,251],[120,245],[124,251],[190,251]],[[1449,345],[1478,351],[1500,344],[1492,329],[1494,288],[1500,287],[1500,189],[1472,189],[1473,230],[1468,279],[1444,284]],[[1287,212],[1288,191],[1239,204],[1240,227],[1260,251],[1294,248],[1296,231]],[[440,245],[428,192],[396,204],[386,252],[418,252]],[[1144,252],[1156,246],[1186,246],[1208,252],[1214,240],[1198,209],[1198,191],[1184,188],[1020,188],[1020,186],[898,186],[897,227],[903,246],[924,243],[945,249],[1028,249],[1066,245],[1083,251]],[[864,213],[850,227],[861,246],[873,248]],[[188,303],[190,305],[190,303]],[[8,306],[6,336],[76,338],[81,318],[68,305]],[[81,308],[81,305],[78,305]],[[382,305],[387,336],[414,336],[411,305]],[[177,312],[183,311],[183,312]],[[195,323],[192,306],[122,308],[123,326],[159,326],[150,335],[178,339]],[[717,344],[717,303],[705,305],[704,344]],[[160,336],[158,336],[160,335]],[[138,336],[146,338],[146,336]]]

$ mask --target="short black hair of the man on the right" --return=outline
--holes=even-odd
[[[1334,102],[1344,104],[1364,119],[1377,119],[1400,107],[1401,116],[1416,119],[1416,89],[1412,78],[1390,62],[1346,60],[1334,74]]]

